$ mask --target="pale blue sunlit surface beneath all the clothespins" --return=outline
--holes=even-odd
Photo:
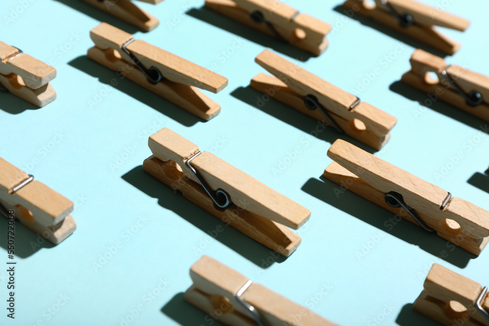
[[[487,1],[424,2],[448,4],[447,11],[472,21],[465,33],[446,32],[463,44],[447,60],[489,74]],[[28,5],[7,22],[5,16],[22,3]],[[182,299],[191,284],[189,268],[202,254],[340,325],[437,325],[412,310],[434,262],[489,284],[487,251],[475,258],[448,248],[448,257],[438,258],[447,250],[444,239],[407,221],[386,228],[391,213],[349,192],[337,198],[333,183],[320,175],[338,134],[327,129],[311,136],[316,122],[276,101],[257,109],[262,94],[247,86],[264,72],[254,63],[264,46],[296,63],[302,57],[304,68],[350,92],[380,69],[356,93],[399,119],[376,155],[489,209],[489,177],[480,174],[489,164],[488,135],[481,131],[486,122],[440,101],[426,108],[419,104],[425,94],[399,83],[422,44],[345,16],[340,1],[287,3],[335,26],[319,58],[306,60],[305,52],[202,10],[201,0],[138,2],[161,20],[150,33],[79,0],[0,2],[1,40],[58,71],[52,82],[58,98],[42,109],[0,93],[0,156],[74,201],[78,224],[60,245],[43,243],[37,250],[31,247],[37,236],[18,224],[16,319],[5,316],[6,273],[0,272],[1,325],[126,325],[138,306],[144,310],[127,325],[211,325]],[[216,64],[229,79],[222,92],[210,94],[221,114],[203,122],[129,80],[110,87],[115,73],[86,56],[89,30],[100,21],[204,67]],[[389,55],[390,62],[384,58]],[[234,229],[209,236],[223,223],[142,171],[150,155],[147,138],[163,127],[311,210],[298,231],[298,250],[276,260]],[[55,144],[57,135],[62,139]],[[296,147],[301,152],[287,159]],[[459,152],[463,157],[452,164]],[[0,231],[0,257],[6,260],[6,223]],[[111,259],[94,267],[116,245],[117,252],[107,254]],[[164,290],[157,290],[160,283]],[[150,296],[153,291],[157,295]]]

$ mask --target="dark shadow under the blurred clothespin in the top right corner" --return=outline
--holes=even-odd
[[[400,32],[397,32],[393,29],[390,29],[389,27],[386,27],[385,25],[382,25],[381,23],[378,23],[371,18],[362,16],[358,13],[354,13],[352,15],[351,14],[352,10],[347,9],[347,8],[343,7],[342,5],[337,5],[336,7],[333,8],[333,10],[342,14],[342,15],[347,16],[350,19],[356,20],[357,22],[361,23],[362,25],[373,28],[382,34],[390,36],[391,38],[396,39],[396,40],[398,40],[402,43],[405,43],[409,46],[412,46],[414,48],[422,48],[422,49],[429,51],[429,52],[431,52],[431,53],[433,53],[439,57],[442,57],[442,58],[445,58],[446,56],[448,56],[448,54],[446,54],[445,52],[437,50],[437,49],[435,49],[435,48],[433,48],[433,47],[431,47],[425,43],[422,43],[422,42],[415,40],[409,36],[406,36]]]

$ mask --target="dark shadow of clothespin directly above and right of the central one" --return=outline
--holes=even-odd
[[[290,126],[310,134],[311,137],[316,137],[331,144],[333,144],[336,139],[341,138],[355,144],[364,151],[370,153],[378,152],[376,149],[356,140],[355,138],[334,130],[333,127],[328,126],[326,123],[314,120],[296,109],[270,98],[270,96],[267,94],[264,94],[249,85],[246,87],[236,88],[231,92],[231,95],[252,106],[253,110],[259,109],[276,119],[288,123]],[[264,101],[263,99],[268,99],[268,101]]]

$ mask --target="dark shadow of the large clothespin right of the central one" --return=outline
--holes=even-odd
[[[403,218],[393,219],[394,214],[348,189],[342,189],[323,175],[319,179],[309,179],[302,191],[460,268],[464,268],[471,259],[477,257]]]

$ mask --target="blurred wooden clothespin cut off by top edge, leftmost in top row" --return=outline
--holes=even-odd
[[[159,20],[133,4],[131,0],[84,0],[92,6],[105,11],[118,19],[133,24],[145,32],[155,29]],[[158,4],[164,0],[140,0],[151,4]]]

